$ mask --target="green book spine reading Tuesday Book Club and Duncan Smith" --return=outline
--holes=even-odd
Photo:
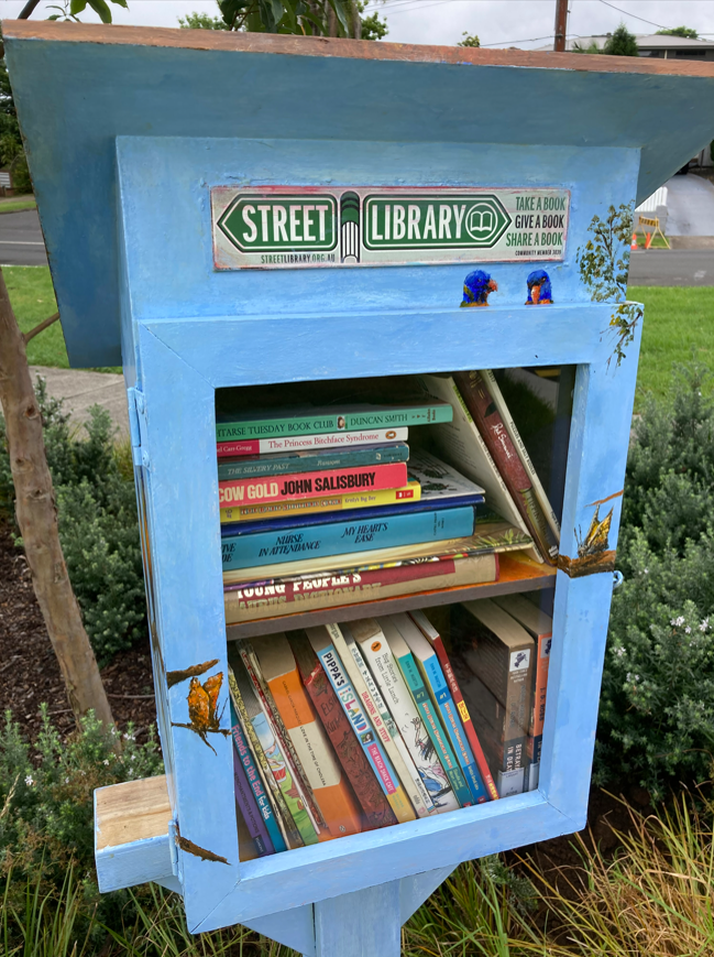
[[[235,438],[274,438],[289,435],[317,435],[328,432],[358,432],[362,428],[403,428],[409,425],[428,425],[451,422],[453,409],[448,402],[427,405],[408,405],[393,409],[306,412],[301,415],[279,417],[266,414],[265,418],[219,422],[216,424],[216,441]]]

